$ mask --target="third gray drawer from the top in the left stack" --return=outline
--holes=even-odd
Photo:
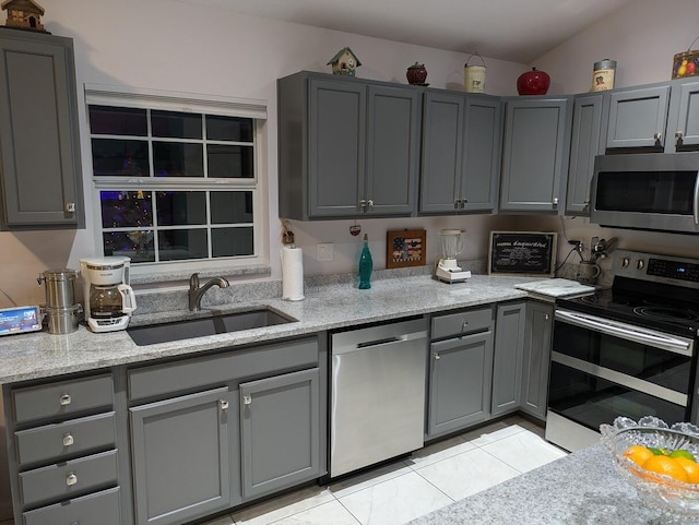
[[[117,482],[117,451],[71,460],[20,474],[24,505],[70,498],[93,488]]]

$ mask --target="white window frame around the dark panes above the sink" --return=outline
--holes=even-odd
[[[132,88],[126,86],[109,86],[104,84],[85,84],[85,114],[90,132],[90,106],[112,106],[151,110],[191,112],[216,115],[225,117],[250,118],[253,120],[254,140],[254,177],[252,179],[202,179],[168,177],[158,179],[153,177],[128,178],[123,176],[95,177],[91,166],[93,220],[95,246],[99,254],[104,255],[102,207],[99,192],[104,190],[121,191],[152,191],[168,190],[245,190],[252,192],[253,210],[253,254],[235,258],[197,259],[189,261],[162,261],[157,263],[139,263],[131,266],[133,276],[171,276],[173,279],[183,278],[192,272],[206,271],[241,271],[260,269],[269,271],[269,226],[268,189],[269,174],[264,155],[266,152],[266,100],[223,97],[216,95],[199,95],[181,92],[168,92],[147,88]],[[92,132],[90,134],[90,158],[92,163]],[[149,138],[151,140],[151,138]]]

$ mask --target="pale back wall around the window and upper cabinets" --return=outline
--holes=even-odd
[[[173,0],[43,0],[47,31],[74,39],[80,94],[84,83],[150,90],[226,95],[268,100],[269,215],[273,276],[280,275],[276,206],[276,87],[280,76],[299,70],[330,72],[328,60],[350,46],[363,65],[357,76],[406,83],[405,70],[424,62],[427,82],[436,87],[460,87],[465,55],[380,40],[365,36],[289,24],[216,8],[194,8]],[[486,91],[512,95],[523,64],[488,59]],[[85,108],[80,107],[82,166],[86,195],[91,194],[91,159]],[[42,302],[44,290],[36,276],[50,267],[78,269],[78,260],[97,253],[93,210],[86,199],[87,229],[79,231],[0,232],[0,289],[19,303]],[[447,219],[391,223],[392,227],[424,225],[430,229]],[[500,222],[502,219],[499,219]],[[458,222],[475,231],[469,256],[482,256],[482,232],[487,217]],[[380,220],[363,225],[372,239],[383,238]],[[370,223],[371,225],[369,226]],[[295,226],[307,256],[309,273],[346,272],[354,269],[352,241],[345,224],[325,222]],[[337,242],[333,263],[315,263],[318,241]],[[382,251],[377,248],[376,251]],[[357,252],[358,253],[358,252]],[[377,262],[377,267],[378,262]],[[10,306],[0,294],[0,308]]]

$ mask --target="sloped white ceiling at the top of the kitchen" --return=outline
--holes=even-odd
[[[183,0],[530,63],[631,0]]]

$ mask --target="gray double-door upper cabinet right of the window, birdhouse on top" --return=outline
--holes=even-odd
[[[277,81],[280,216],[415,213],[419,91],[301,72]]]

